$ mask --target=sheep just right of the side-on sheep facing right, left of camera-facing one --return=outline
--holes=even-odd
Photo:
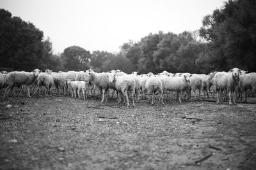
[[[198,89],[199,90],[199,100],[200,100],[201,90],[202,90],[203,85],[205,87],[206,82],[198,74],[191,74],[189,76],[189,81],[190,81],[190,88],[191,88],[189,90],[189,97],[191,97],[191,90],[193,90],[193,92],[195,94],[195,99],[196,99],[196,90]]]

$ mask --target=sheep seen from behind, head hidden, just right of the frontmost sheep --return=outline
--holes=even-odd
[[[150,95],[152,95],[152,102],[153,105],[155,103],[155,94],[158,91],[160,93],[162,104],[164,105],[163,101],[163,85],[162,81],[157,77],[150,77],[146,81],[145,88],[147,89],[148,94],[148,101],[150,102]]]

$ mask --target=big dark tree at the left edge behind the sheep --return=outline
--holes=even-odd
[[[24,22],[0,9],[0,67],[31,71],[40,67],[44,55],[44,33],[31,22]]]

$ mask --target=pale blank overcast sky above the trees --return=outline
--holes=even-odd
[[[221,6],[223,0],[0,0],[0,8],[44,31],[54,53],[73,45],[118,52],[150,32],[195,31]]]

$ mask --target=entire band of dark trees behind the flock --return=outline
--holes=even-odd
[[[118,53],[90,52],[74,45],[60,55],[52,53],[51,39],[44,39],[43,31],[0,9],[0,69],[210,73],[239,67],[253,72],[256,71],[255,9],[255,1],[230,0],[202,18],[198,31],[150,33],[140,41],[124,43]]]

